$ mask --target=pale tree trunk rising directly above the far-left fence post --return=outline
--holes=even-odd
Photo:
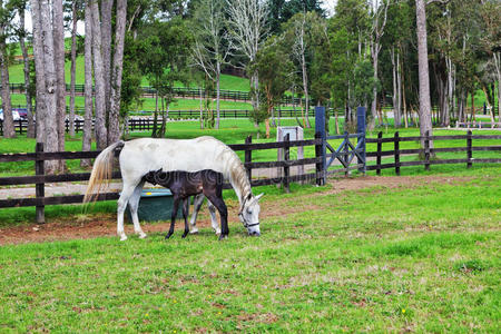
[[[40,2],[31,0],[31,22],[33,24],[33,56],[36,68],[36,118],[37,143],[46,143],[47,104],[46,104],[46,70],[43,68],[43,40],[41,27]]]

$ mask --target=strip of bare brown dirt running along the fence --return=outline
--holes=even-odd
[[[443,176],[364,176],[356,178],[336,178],[330,179],[332,185],[326,191],[321,194],[341,194],[343,191],[360,190],[382,186],[385,188],[399,187],[415,187],[423,184],[456,184],[469,180],[468,177],[443,177]],[[314,197],[316,194],[304,196],[305,198]],[[315,209],[314,203],[304,202],[301,206],[287,206],[287,200],[265,203],[262,205],[262,220],[269,217],[284,216],[294,213],[301,213],[307,209]],[[207,210],[204,206],[203,210]],[[237,205],[228,205],[228,223],[230,225],[240,224],[238,218]],[[77,220],[75,220],[77,219]],[[210,227],[210,218],[208,214],[203,215],[202,219],[197,220],[197,226],[202,228]],[[169,228],[169,223],[143,224],[143,229],[147,234],[164,233]],[[183,223],[177,220],[175,236],[180,237]],[[134,227],[131,224],[125,225],[125,230],[128,236],[134,235]],[[13,227],[0,228],[0,245],[8,244],[23,244],[23,243],[41,243],[53,240],[69,240],[69,239],[85,239],[101,236],[116,236],[117,223],[115,214],[102,214],[100,216],[89,217],[69,217],[57,219],[43,225],[23,225]]]

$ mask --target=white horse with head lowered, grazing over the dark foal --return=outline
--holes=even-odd
[[[94,163],[84,203],[96,198],[102,185],[109,183],[112,173],[112,160],[119,154],[122,190],[118,199],[117,234],[126,240],[124,232],[124,212],[129,204],[134,230],[140,238],[146,237],[139,225],[137,208],[145,184],[145,175],[150,170],[163,169],[198,171],[213,169],[223,174],[234,188],[240,204],[238,217],[249,235],[261,235],[259,204],[263,194],[254,196],[245,168],[238,156],[222,141],[204,136],[195,139],[154,139],[141,138],[130,141],[117,141],[105,148]],[[95,189],[97,188],[97,191]],[[203,198],[202,198],[203,199]],[[202,204],[200,204],[202,205]],[[199,205],[197,206],[199,208]],[[215,215],[212,224],[216,233],[220,233]],[[196,215],[195,215],[196,218]],[[195,218],[190,222],[190,232],[195,233]],[[222,236],[225,237],[225,236]]]

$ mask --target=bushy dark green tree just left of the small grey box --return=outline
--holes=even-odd
[[[274,107],[279,104],[284,92],[291,87],[293,63],[287,59],[287,53],[279,40],[271,37],[266,45],[257,52],[250,70],[259,72],[259,91],[265,97],[262,104],[262,114],[265,115],[266,138],[269,138],[269,117]],[[258,122],[258,118],[255,119]]]

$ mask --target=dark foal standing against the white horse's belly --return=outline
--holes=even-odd
[[[228,233],[228,209],[223,200],[223,174],[212,169],[204,169],[199,171],[188,173],[181,170],[175,171],[149,171],[145,179],[155,185],[158,184],[170,189],[174,195],[174,207],[170,216],[170,228],[166,235],[168,239],[174,233],[174,224],[176,222],[177,209],[179,202],[183,199],[183,218],[185,219],[185,233],[183,238],[189,232],[188,228],[188,206],[189,196],[204,194],[208,200],[217,208],[220,216],[220,235],[219,240],[225,238]]]

